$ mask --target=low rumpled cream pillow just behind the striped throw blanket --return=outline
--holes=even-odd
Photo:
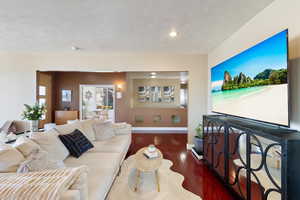
[[[27,173],[42,170],[61,169],[64,167],[65,164],[62,160],[52,160],[48,152],[37,149],[20,164],[17,172]]]

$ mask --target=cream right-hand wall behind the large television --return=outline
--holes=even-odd
[[[296,129],[300,129],[299,11],[299,0],[275,0],[270,6],[262,10],[230,38],[208,54],[208,75],[210,77],[211,67],[288,28],[292,103],[291,127]],[[211,111],[210,95],[208,99],[208,108]]]

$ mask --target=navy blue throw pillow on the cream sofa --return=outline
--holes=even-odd
[[[84,152],[94,147],[78,129],[72,133],[59,135],[58,137],[69,150],[70,154],[76,158],[79,158]]]

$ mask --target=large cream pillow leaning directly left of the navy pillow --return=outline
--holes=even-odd
[[[65,145],[60,141],[54,129],[46,132],[35,133],[31,139],[40,145],[41,149],[49,153],[49,157],[53,160],[64,160],[70,153]]]

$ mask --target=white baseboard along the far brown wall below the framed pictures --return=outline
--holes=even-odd
[[[187,127],[132,127],[133,133],[187,133]]]

